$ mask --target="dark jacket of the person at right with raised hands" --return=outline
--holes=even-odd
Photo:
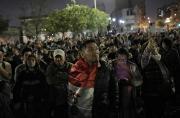
[[[163,95],[164,97],[165,94],[168,95],[168,92],[171,92],[169,85],[170,78],[167,68],[162,62],[151,58],[143,69],[143,95]]]

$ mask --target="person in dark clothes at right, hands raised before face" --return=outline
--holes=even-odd
[[[161,55],[154,39],[151,39],[142,56],[143,87],[142,96],[146,118],[163,116],[168,97],[171,96],[169,72],[160,61]]]

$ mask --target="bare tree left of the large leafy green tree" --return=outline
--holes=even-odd
[[[42,28],[43,17],[48,13],[48,4],[52,0],[21,0],[21,24],[26,35],[35,36],[37,39]]]

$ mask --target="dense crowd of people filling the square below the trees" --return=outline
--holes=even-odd
[[[178,30],[1,44],[0,117],[175,118],[179,55]]]

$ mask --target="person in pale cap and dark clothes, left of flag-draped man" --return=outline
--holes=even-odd
[[[54,50],[54,61],[47,67],[50,115],[52,118],[67,118],[67,84],[71,63],[66,62],[65,52]]]

